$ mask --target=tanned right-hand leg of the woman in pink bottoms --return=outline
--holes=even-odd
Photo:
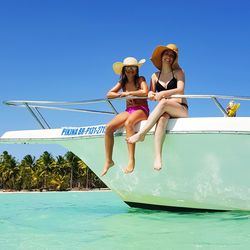
[[[134,126],[136,123],[142,120],[146,120],[147,116],[144,111],[137,110],[130,114],[127,121],[125,122],[127,137],[134,135]],[[135,167],[135,144],[128,143],[128,165],[124,169],[124,173],[128,174],[133,172]]]

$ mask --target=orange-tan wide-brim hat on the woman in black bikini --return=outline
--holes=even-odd
[[[157,69],[161,70],[161,67],[162,67],[161,55],[165,50],[168,50],[168,49],[174,51],[176,54],[176,58],[172,64],[172,69],[180,69],[180,66],[178,64],[178,48],[175,44],[168,44],[166,46],[164,45],[157,46],[154,49],[150,60],[152,61],[152,63]]]

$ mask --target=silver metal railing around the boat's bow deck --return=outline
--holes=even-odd
[[[4,101],[3,103],[8,106],[27,108],[27,110],[31,113],[31,115],[43,129],[48,129],[48,128],[50,129],[50,126],[43,117],[43,115],[41,114],[40,109],[116,115],[118,114],[118,111],[114,107],[112,100],[119,100],[119,99],[124,100],[124,99],[135,99],[135,98],[145,99],[146,97],[128,96],[126,98],[94,99],[94,100],[72,101],[72,102],[13,100],[13,101]],[[218,101],[218,99],[250,101],[250,97],[247,96],[244,97],[244,96],[225,96],[225,95],[173,95],[171,96],[171,98],[211,99],[224,116],[228,116],[227,112],[223,108],[221,103]],[[62,106],[86,105],[94,103],[106,103],[111,108],[111,111],[62,107]],[[51,105],[56,105],[56,106],[51,106]]]

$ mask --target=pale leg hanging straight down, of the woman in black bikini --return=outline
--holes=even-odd
[[[155,144],[155,159],[154,169],[161,170],[162,168],[162,146],[166,135],[166,127],[170,116],[164,113],[158,120],[155,128],[154,144]]]

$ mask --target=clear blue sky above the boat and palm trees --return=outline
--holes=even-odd
[[[112,64],[145,58],[148,84],[157,45],[176,43],[186,94],[248,96],[250,3],[247,0],[0,0],[0,101],[103,98],[118,80]],[[211,101],[189,101],[190,116],[220,116]],[[117,103],[120,110],[124,103]],[[226,103],[225,103],[226,105]],[[247,102],[240,116],[249,115]],[[104,123],[103,115],[43,112],[53,127]],[[25,109],[0,105],[0,134],[38,129]],[[16,158],[54,155],[57,146],[0,145]]]

